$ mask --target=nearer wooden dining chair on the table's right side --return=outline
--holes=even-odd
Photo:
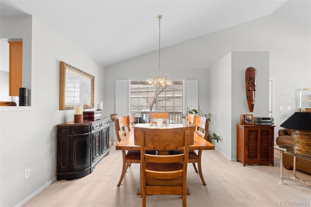
[[[192,114],[193,115],[193,114]],[[191,116],[191,115],[190,115]],[[187,115],[188,119],[188,115]],[[208,134],[208,120],[205,117],[200,117],[193,115],[193,125],[195,127],[195,133],[198,134],[200,137],[207,139]],[[198,150],[196,153],[194,150],[189,150],[189,157],[188,157],[188,163],[192,163],[193,168],[196,173],[199,173],[202,184],[206,186],[203,173],[202,173],[202,166],[201,166],[201,157],[202,157],[202,150]],[[181,153],[179,150],[170,150],[170,155],[176,155]],[[195,163],[198,165],[198,169],[196,168]]]

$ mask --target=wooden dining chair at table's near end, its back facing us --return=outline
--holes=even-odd
[[[194,126],[180,128],[140,128],[140,189],[142,207],[146,195],[182,195],[183,207],[187,206],[187,165],[190,140]],[[192,144],[192,143],[191,143]],[[149,155],[145,151],[182,148],[178,155]]]

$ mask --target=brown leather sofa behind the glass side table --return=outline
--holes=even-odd
[[[293,132],[293,129],[280,129],[278,131],[278,137],[276,138],[276,144],[294,145],[293,138],[291,137]],[[293,156],[283,154],[283,165],[286,169],[292,170],[293,162]],[[311,161],[296,157],[296,170],[311,174]]]

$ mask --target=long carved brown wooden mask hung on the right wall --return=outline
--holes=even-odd
[[[256,69],[253,67],[249,67],[245,71],[245,89],[248,109],[253,112],[256,92]]]

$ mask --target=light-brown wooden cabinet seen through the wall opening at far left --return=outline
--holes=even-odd
[[[22,86],[23,42],[9,42],[9,96],[18,96]]]

